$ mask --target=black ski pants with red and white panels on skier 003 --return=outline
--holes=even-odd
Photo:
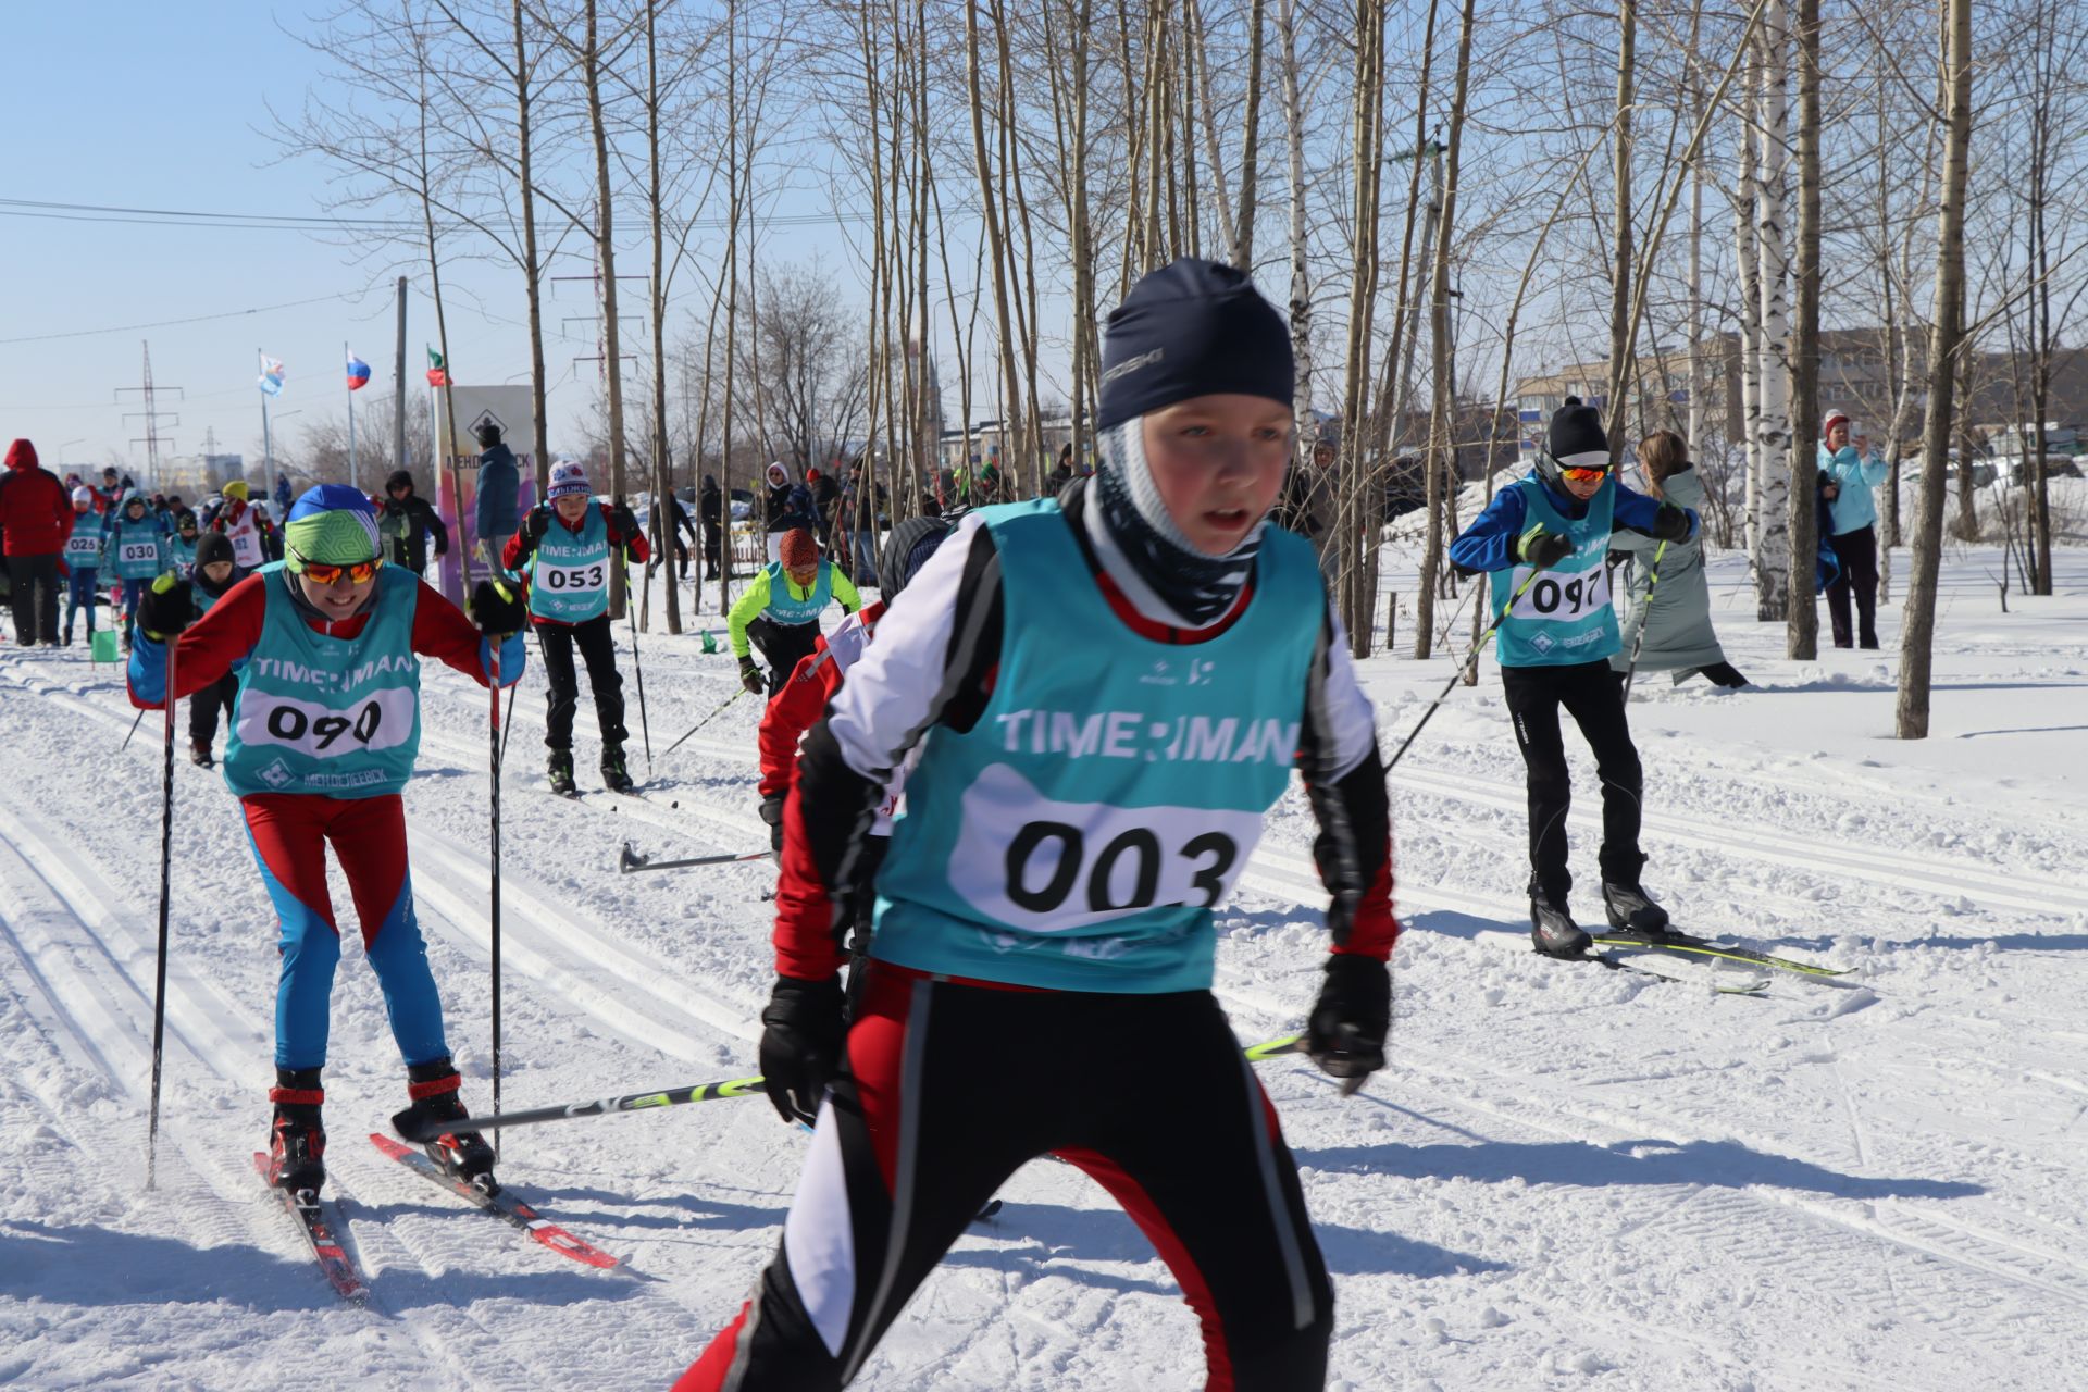
[[[1125,1087],[1157,1039],[1163,1075]],[[846,1386],[979,1206],[1046,1154],[1159,1250],[1203,1323],[1209,1386],[1324,1386],[1334,1290],[1276,1110],[1209,991],[1002,991],[873,962],[783,1246],[677,1392]]]

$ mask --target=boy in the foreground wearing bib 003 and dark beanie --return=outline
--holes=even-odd
[[[804,741],[760,1064],[816,1119],[783,1244],[683,1390],[854,1379],[1023,1162],[1092,1175],[1173,1269],[1209,1386],[1318,1388],[1332,1286],[1276,1110],[1211,995],[1213,910],[1290,770],[1332,891],[1309,1048],[1391,1025],[1391,826],[1311,547],[1265,524],[1290,336],[1244,273],[1153,271],[1109,317],[1102,470],[958,522]],[[919,747],[844,1031],[841,895]],[[1148,1085],[1113,1081],[1144,1060]]]

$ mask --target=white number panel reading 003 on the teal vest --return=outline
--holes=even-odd
[[[950,887],[1023,933],[1079,933],[1148,908],[1215,908],[1259,812],[1052,801],[994,764],[965,789]]]

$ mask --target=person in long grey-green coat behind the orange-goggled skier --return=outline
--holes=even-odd
[[[1656,430],[1639,442],[1639,472],[1645,476],[1645,490],[1677,507],[1687,507],[1700,518],[1704,513],[1704,480],[1689,463],[1689,447],[1672,430]],[[1710,584],[1704,580],[1704,538],[1670,541],[1660,553],[1658,584],[1654,553],[1660,543],[1635,532],[1614,532],[1610,536],[1610,559],[1622,561],[1629,576],[1624,609],[1624,645],[1610,657],[1618,672],[1631,666],[1637,647],[1639,668],[1647,672],[1672,672],[1681,685],[1702,672],[1718,687],[1746,687],[1748,678],[1733,670],[1718,647],[1718,634],[1710,626]],[[1647,589],[1654,591],[1647,603]],[[1639,645],[1639,628],[1645,643]]]

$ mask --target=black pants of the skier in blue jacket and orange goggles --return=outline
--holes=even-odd
[[[1572,774],[1560,737],[1560,707],[1574,718],[1601,774],[1601,877],[1637,885],[1639,797],[1645,776],[1624,720],[1624,674],[1608,662],[1572,666],[1501,668],[1508,714],[1528,770],[1531,791],[1531,893],[1564,904],[1572,889],[1566,868],[1566,810]]]

